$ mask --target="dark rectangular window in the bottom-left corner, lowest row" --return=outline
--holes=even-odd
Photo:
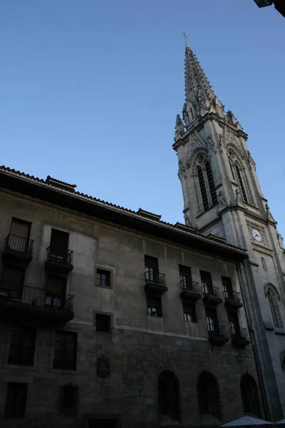
[[[28,384],[9,382],[4,417],[25,419]]]

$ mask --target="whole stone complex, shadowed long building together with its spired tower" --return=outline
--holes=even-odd
[[[1,426],[278,419],[281,238],[246,134],[189,47],[185,64],[186,225],[0,168]]]

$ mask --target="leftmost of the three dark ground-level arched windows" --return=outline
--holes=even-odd
[[[180,422],[180,392],[177,378],[165,370],[158,378],[158,404],[160,417]]]

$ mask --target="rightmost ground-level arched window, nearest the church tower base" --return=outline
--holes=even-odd
[[[257,382],[250,374],[244,374],[241,379],[242,404],[245,414],[261,417]]]

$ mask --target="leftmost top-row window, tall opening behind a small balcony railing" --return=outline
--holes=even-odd
[[[10,250],[21,251],[26,253],[26,251],[31,250],[29,246],[29,238],[31,231],[31,223],[28,223],[24,220],[19,220],[19,218],[12,218],[10,233],[7,240],[7,246]]]

